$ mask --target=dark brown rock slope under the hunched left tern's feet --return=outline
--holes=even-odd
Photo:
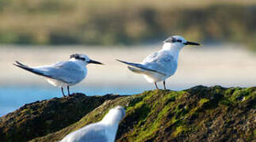
[[[0,141],[27,141],[54,133],[81,119],[105,100],[120,95],[86,96],[73,94],[25,104],[0,118]]]

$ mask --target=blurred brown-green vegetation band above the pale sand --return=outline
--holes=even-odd
[[[256,2],[0,0],[0,43],[137,44],[170,35],[256,48]]]

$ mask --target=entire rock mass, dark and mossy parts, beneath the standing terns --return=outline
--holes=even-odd
[[[70,100],[27,104],[3,116],[0,140],[58,141],[101,120],[109,109],[121,105],[127,114],[120,122],[117,141],[255,141],[255,99],[255,87],[220,86],[197,86],[180,92],[155,90],[128,96],[74,95]],[[32,119],[33,115],[37,118]],[[28,129],[24,128],[29,128],[29,133],[25,134]]]

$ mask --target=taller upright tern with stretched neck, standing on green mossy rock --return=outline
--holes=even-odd
[[[182,36],[170,36],[163,41],[162,50],[150,54],[143,60],[141,64],[123,62],[129,65],[128,69],[134,73],[143,74],[147,82],[155,83],[155,88],[158,89],[156,82],[163,81],[164,89],[166,89],[166,79],[177,70],[178,54],[185,45],[200,45],[186,41]]]

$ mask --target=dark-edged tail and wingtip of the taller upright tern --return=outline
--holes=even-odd
[[[143,73],[144,72],[143,70],[145,70],[145,71],[151,71],[151,72],[159,73],[159,74],[162,74],[162,75],[165,76],[165,73],[161,73],[161,72],[159,72],[155,69],[149,69],[145,65],[142,65],[142,64],[137,64],[137,63],[132,63],[132,62],[124,62],[124,61],[121,61],[121,60],[118,60],[118,59],[117,59],[117,61],[122,62],[122,63],[127,64],[127,65],[134,66],[136,68],[139,68],[139,69],[136,69],[136,68],[132,68],[132,67],[129,68],[128,67],[128,69],[130,69],[132,72],[135,72],[135,73]],[[141,69],[143,69],[143,70],[141,70]]]

